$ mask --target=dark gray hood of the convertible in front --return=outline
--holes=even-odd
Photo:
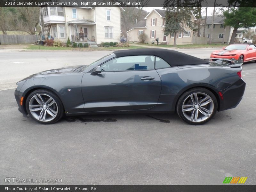
[[[42,71],[42,72],[30,75],[30,76],[26,77],[25,79],[22,79],[21,81],[26,80],[26,79],[30,79],[30,78],[33,78],[33,77],[36,77],[36,76],[61,75],[61,74],[67,74],[67,73],[76,73],[77,72],[76,69],[79,69],[83,66],[84,65],[78,65],[78,66],[70,66],[70,67],[63,67],[63,68],[57,68],[57,69],[50,69],[50,70],[47,70],[47,71]]]

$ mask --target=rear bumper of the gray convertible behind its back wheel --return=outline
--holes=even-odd
[[[223,99],[221,99],[219,92],[217,92],[220,97],[219,111],[235,108],[243,98],[245,85],[246,83],[244,80],[240,78],[227,89],[219,91],[221,92]]]

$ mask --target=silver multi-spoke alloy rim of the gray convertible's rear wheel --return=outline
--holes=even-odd
[[[201,92],[192,93],[182,104],[182,113],[191,122],[205,121],[212,115],[213,110],[212,98]]]

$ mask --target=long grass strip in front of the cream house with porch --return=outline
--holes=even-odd
[[[49,47],[49,46],[41,46],[41,45],[28,45],[27,48],[29,50],[60,50],[60,51],[68,51],[68,50],[73,50],[73,51],[104,51],[104,50],[116,50],[116,49],[140,49],[143,47],[139,46],[130,46],[130,47],[92,47],[92,48],[73,48],[73,47]]]

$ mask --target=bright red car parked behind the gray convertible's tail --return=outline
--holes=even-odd
[[[211,58],[226,58],[256,62],[256,46],[255,44],[231,44],[221,50],[214,51]]]

